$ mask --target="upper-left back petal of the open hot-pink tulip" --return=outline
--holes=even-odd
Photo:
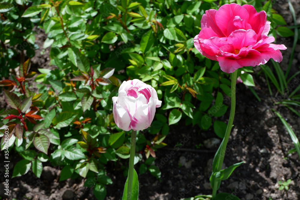
[[[214,31],[214,33],[216,33],[219,37],[224,37],[225,35],[222,33],[222,31],[216,23],[216,13],[217,10],[215,9],[209,9],[205,11],[205,14],[202,15],[201,19],[201,29],[211,28]]]

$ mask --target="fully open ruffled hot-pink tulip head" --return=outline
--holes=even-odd
[[[219,61],[221,70],[232,73],[244,66],[265,64],[270,58],[282,61],[281,44],[270,44],[270,23],[265,11],[256,12],[252,5],[225,4],[219,10],[206,10],[201,31],[194,46],[209,59]]]

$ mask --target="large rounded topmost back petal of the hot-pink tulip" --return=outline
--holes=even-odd
[[[233,26],[233,19],[235,16],[240,16],[241,19],[246,21],[249,20],[249,13],[247,10],[240,5],[233,3],[221,6],[215,15],[216,24],[226,37],[232,32],[228,27]]]

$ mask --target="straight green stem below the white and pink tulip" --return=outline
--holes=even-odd
[[[134,172],[134,157],[135,157],[135,142],[137,137],[137,131],[131,130],[131,144],[130,144],[130,158],[129,158],[129,170],[128,170],[128,187],[127,187],[127,200],[131,200],[132,181]]]

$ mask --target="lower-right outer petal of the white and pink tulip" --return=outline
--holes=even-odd
[[[148,128],[155,115],[155,104],[152,97],[150,97],[148,104],[143,104],[137,108],[134,113],[133,120],[131,121],[131,129],[133,130],[143,130]]]

